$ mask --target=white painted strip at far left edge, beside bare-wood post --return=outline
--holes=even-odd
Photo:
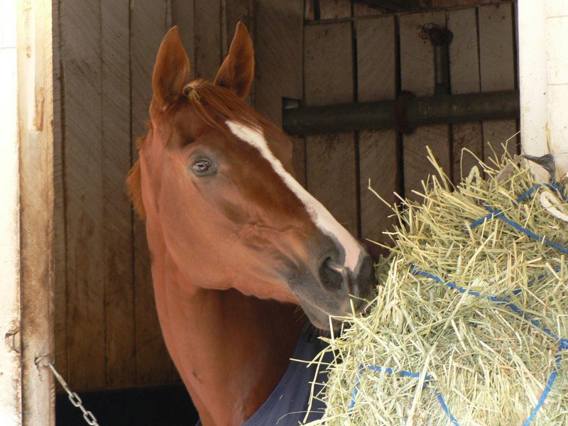
[[[16,1],[0,1],[0,425],[21,425]],[[16,335],[13,335],[17,332]],[[11,336],[9,339],[4,337]]]

